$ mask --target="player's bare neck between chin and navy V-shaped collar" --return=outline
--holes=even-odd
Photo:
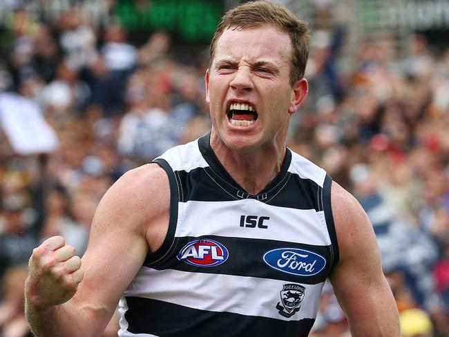
[[[233,180],[247,193],[257,194],[280,172],[286,145],[273,141],[255,150],[234,151],[212,131],[211,148]]]

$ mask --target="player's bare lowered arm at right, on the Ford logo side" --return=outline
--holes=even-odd
[[[401,336],[396,303],[382,273],[370,220],[359,202],[335,182],[332,213],[340,261],[330,280],[350,322],[352,336]]]

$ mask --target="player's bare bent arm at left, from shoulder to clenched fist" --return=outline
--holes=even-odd
[[[168,214],[168,179],[149,164],[126,173],[99,203],[79,285],[72,280],[76,272],[71,277],[58,264],[55,249],[64,247],[63,238],[35,249],[26,282],[26,314],[35,336],[100,336],[149,249],[162,243]],[[72,298],[70,289],[76,291]],[[58,296],[64,291],[69,300]]]

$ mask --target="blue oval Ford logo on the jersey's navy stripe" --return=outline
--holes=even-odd
[[[296,276],[314,276],[326,265],[323,256],[298,248],[271,249],[263,255],[269,267]]]

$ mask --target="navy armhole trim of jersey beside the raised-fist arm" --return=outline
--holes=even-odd
[[[149,253],[144,261],[145,267],[155,267],[157,264],[160,264],[169,257],[171,251],[175,248],[175,231],[176,224],[178,223],[178,184],[176,183],[175,173],[171,168],[170,164],[161,158],[157,158],[153,160],[152,163],[158,164],[160,167],[164,169],[166,175],[169,177],[169,186],[170,186],[170,215],[169,215],[169,229],[167,230],[164,242],[162,242],[162,246],[154,251],[153,253]]]

